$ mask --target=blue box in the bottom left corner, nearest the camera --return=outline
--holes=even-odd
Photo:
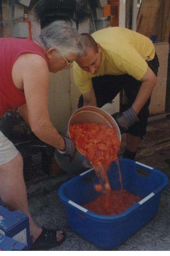
[[[28,246],[10,237],[0,237],[0,251],[28,251]]]

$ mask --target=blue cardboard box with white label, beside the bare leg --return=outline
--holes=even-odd
[[[0,205],[0,235],[5,235],[30,247],[32,236],[29,230],[29,218],[19,211],[10,212]]]

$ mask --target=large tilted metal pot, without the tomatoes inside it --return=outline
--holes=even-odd
[[[109,127],[115,127],[117,131],[117,137],[121,140],[121,133],[115,120],[102,110],[101,108],[87,106],[77,109],[71,116],[69,124],[62,132],[62,135],[70,137],[69,126],[76,123],[102,123]],[[77,150],[74,159],[70,160],[69,157],[62,156],[57,150],[54,152],[54,157],[58,165],[69,175],[78,175],[92,166],[88,159]]]

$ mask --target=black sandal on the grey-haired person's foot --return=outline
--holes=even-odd
[[[42,228],[42,232],[31,246],[31,251],[49,249],[60,245],[66,238],[66,232],[62,231],[63,238],[57,242],[56,230]]]

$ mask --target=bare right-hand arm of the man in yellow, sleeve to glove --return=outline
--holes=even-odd
[[[156,76],[154,72],[147,67],[146,73],[140,80],[142,85],[139,89],[138,95],[132,105],[134,112],[138,115],[144,104],[147,102],[148,98],[151,96],[152,91],[156,85]]]

